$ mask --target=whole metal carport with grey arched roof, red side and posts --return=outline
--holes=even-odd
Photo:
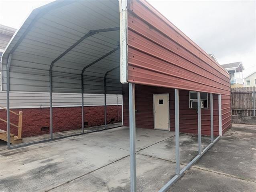
[[[6,48],[1,74],[2,90],[7,91],[8,136],[10,91],[50,92],[52,135],[52,92],[122,94],[120,82],[129,83],[132,192],[136,191],[135,84],[175,88],[177,175],[160,191],[166,191],[220,138],[223,125],[230,126],[229,116],[225,122],[221,118],[221,106],[229,104],[221,98],[230,100],[228,73],[144,0],[57,0],[33,10]],[[211,100],[212,94],[219,95],[219,136],[213,140],[211,134],[211,144],[201,149],[198,110],[199,154],[182,170],[179,89],[197,91],[198,108],[199,92],[211,93]],[[229,107],[225,109],[229,114]],[[211,133],[212,122],[211,115]]]

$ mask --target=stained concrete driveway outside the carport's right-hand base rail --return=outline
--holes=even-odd
[[[232,124],[168,192],[255,192],[256,126]]]

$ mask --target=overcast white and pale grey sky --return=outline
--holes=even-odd
[[[0,0],[0,24],[19,28],[26,16],[53,0]],[[242,61],[256,70],[256,0],[148,0],[219,64]]]

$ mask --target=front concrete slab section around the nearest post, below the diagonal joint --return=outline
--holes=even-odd
[[[137,155],[138,192],[156,192],[175,175],[175,164]],[[130,158],[96,170],[51,192],[130,192]],[[122,169],[120,169],[122,167]]]

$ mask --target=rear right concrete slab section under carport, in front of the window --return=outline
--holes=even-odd
[[[202,149],[211,143],[208,136],[201,137]],[[140,154],[161,158],[176,162],[175,159],[175,136],[154,144],[139,152]],[[198,154],[198,137],[193,134],[180,133],[180,162],[188,164]]]

